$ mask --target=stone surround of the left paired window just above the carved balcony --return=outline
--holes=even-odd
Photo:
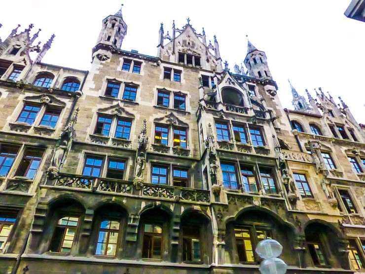
[[[99,157],[99,158],[103,158],[103,164],[102,164],[102,168],[100,171],[100,176],[101,178],[107,178],[107,172],[108,172],[108,164],[109,164],[109,160],[111,159],[115,159],[115,160],[120,160],[120,161],[124,161],[124,174],[123,174],[123,180],[128,180],[128,174],[129,174],[129,169],[130,169],[130,159],[126,158],[126,157],[121,157],[121,156],[116,156],[116,155],[111,155],[111,154],[107,154],[107,153],[98,153],[95,151],[83,151],[81,153],[81,157],[79,158],[79,163],[76,169],[76,174],[80,174],[82,175],[83,169],[84,169],[84,165],[85,165],[85,160],[86,157]],[[110,178],[112,179],[112,178]]]

